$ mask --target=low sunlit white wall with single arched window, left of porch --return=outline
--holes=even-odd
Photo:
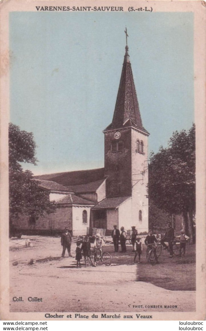
[[[83,223],[82,213],[87,211],[87,223]],[[72,229],[73,235],[86,235],[86,228],[89,227],[90,207],[72,207]]]

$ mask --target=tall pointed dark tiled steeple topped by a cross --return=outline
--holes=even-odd
[[[125,31],[126,36],[127,30]],[[134,80],[129,61],[129,47],[125,47],[125,57],[120,79],[117,101],[112,123],[107,129],[121,128],[123,126],[132,125],[140,130],[148,133],[142,126],[141,115],[139,112],[139,104],[136,96]]]

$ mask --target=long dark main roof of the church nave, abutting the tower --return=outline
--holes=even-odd
[[[104,168],[51,173],[34,176],[35,179],[52,180],[64,186],[76,186],[96,182],[104,178]]]

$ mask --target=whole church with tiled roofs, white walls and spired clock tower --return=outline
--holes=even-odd
[[[55,200],[55,213],[24,217],[22,231],[86,234],[87,227],[148,231],[148,136],[143,127],[128,46],[111,124],[104,133],[104,168],[34,176]]]

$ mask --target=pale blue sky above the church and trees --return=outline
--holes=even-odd
[[[194,121],[193,13],[10,13],[10,121],[34,174],[104,166],[126,38],[149,152]]]

